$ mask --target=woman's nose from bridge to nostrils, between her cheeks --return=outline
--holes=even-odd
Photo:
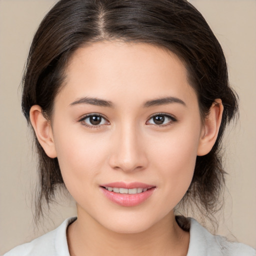
[[[142,170],[148,165],[143,136],[135,125],[124,126],[112,138],[109,165],[125,172]]]

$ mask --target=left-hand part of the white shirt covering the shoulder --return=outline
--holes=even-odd
[[[66,227],[75,219],[76,217],[67,218],[56,229],[14,247],[3,256],[69,256]]]

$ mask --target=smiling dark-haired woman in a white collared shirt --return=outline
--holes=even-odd
[[[236,111],[222,49],[183,0],[60,0],[23,80],[43,200],[65,186],[77,218],[6,255],[254,255],[175,216],[212,214],[219,147]]]

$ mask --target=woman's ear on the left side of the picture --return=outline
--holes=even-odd
[[[31,106],[29,117],[36,137],[45,153],[51,158],[56,157],[57,154],[50,121],[43,116],[41,107],[39,105]]]

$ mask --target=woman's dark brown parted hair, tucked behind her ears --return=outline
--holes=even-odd
[[[186,0],[60,0],[41,21],[31,44],[23,75],[22,111],[28,121],[32,105],[50,120],[61,89],[65,67],[79,47],[96,41],[144,42],[166,48],[184,63],[197,93],[200,114],[207,116],[216,98],[224,106],[217,140],[211,151],[197,156],[192,182],[182,202],[193,202],[204,214],[217,208],[224,184],[220,143],[226,124],[234,117],[237,99],[228,84],[221,46],[202,15]],[[63,185],[57,158],[49,158],[34,134],[40,177],[36,204],[54,200]]]

